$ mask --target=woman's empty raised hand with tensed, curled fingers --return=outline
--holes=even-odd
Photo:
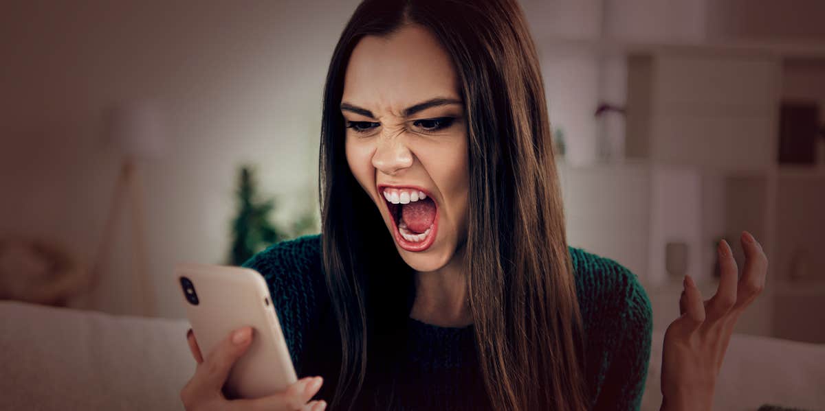
[[[662,348],[662,411],[711,408],[714,385],[722,367],[733,325],[765,288],[768,259],[762,246],[742,232],[745,268],[738,277],[727,241],[719,241],[719,288],[702,301],[690,276],[679,300],[681,315],[667,327]]]

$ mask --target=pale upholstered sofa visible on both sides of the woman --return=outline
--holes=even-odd
[[[195,369],[186,320],[0,301],[0,410],[183,409]],[[642,408],[658,410],[662,332]],[[825,345],[734,334],[715,410],[825,409]]]

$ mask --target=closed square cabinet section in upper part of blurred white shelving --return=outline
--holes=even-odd
[[[702,51],[629,58],[627,155],[709,170],[775,158],[780,63]]]

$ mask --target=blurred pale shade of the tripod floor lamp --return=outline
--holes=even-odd
[[[132,100],[113,105],[107,123],[109,139],[124,156],[147,160],[167,152],[167,116],[158,101]]]

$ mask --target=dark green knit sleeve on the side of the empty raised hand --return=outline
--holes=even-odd
[[[609,365],[596,410],[638,410],[648,375],[650,346],[653,339],[653,310],[647,294],[634,273],[606,259],[618,276],[617,291],[624,298],[618,307],[613,332],[620,336],[608,356]]]

